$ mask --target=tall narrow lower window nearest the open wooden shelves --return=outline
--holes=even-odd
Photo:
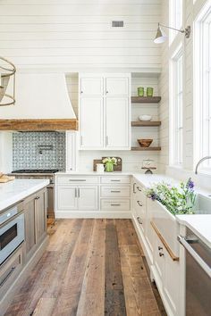
[[[173,165],[182,165],[182,133],[183,133],[183,106],[182,106],[182,51],[172,58],[171,67],[171,160]]]

